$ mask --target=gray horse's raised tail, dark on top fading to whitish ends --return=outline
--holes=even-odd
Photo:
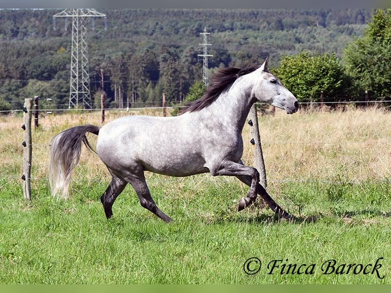
[[[93,125],[76,126],[57,134],[50,151],[49,182],[52,196],[66,199],[72,170],[77,166],[82,150],[82,142],[95,152],[87,140],[86,133],[99,134],[99,127]]]

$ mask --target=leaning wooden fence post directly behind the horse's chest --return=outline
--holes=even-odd
[[[259,134],[259,127],[258,127],[258,115],[257,115],[257,105],[254,104],[249,113],[249,125],[250,125],[250,133],[251,133],[251,144],[254,147],[254,167],[259,172],[259,181],[260,184],[266,188],[267,187],[267,180],[266,180],[266,168],[265,168],[265,162],[263,160],[263,153],[262,153],[262,144],[261,144],[261,136]]]

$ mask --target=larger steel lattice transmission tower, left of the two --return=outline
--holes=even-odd
[[[91,17],[92,29],[94,29],[94,18],[105,18],[105,30],[107,29],[107,16],[97,12],[95,9],[65,9],[53,15],[53,28],[56,30],[56,18],[68,17],[72,19],[72,49],[70,60],[70,90],[69,109],[79,108],[79,102],[86,109],[91,108],[90,81],[88,70],[87,52],[87,29],[86,19]],[[66,24],[65,24],[66,28]]]

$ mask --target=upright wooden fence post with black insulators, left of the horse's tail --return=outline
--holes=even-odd
[[[23,140],[23,196],[26,200],[31,200],[31,155],[32,155],[32,141],[31,141],[31,118],[33,109],[33,99],[25,99],[25,107],[23,107],[24,121],[22,129],[25,131]]]

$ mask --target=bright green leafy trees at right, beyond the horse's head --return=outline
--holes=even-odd
[[[391,9],[376,9],[363,36],[335,53],[284,56],[277,74],[302,102],[390,101]]]

